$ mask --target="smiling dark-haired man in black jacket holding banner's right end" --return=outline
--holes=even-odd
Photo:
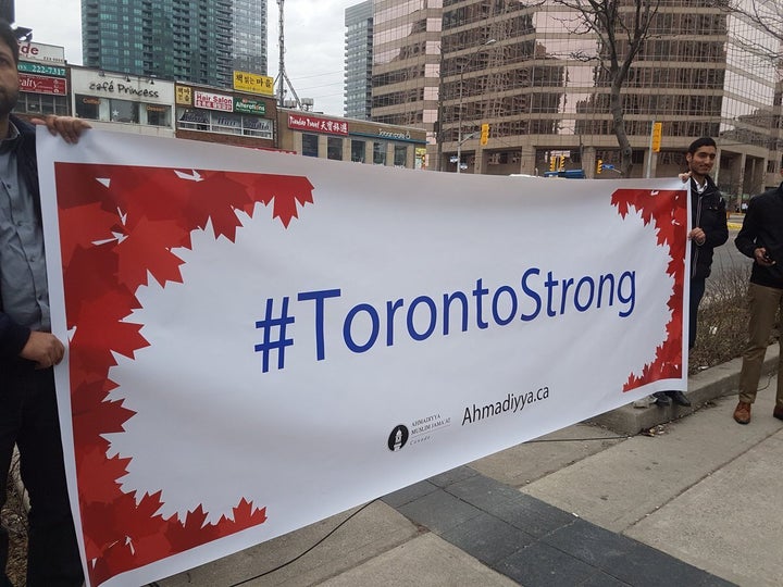
[[[692,225],[688,232],[692,242],[688,349],[696,344],[698,308],[711,272],[713,249],[729,240],[725,200],[709,176],[717,157],[718,147],[710,137],[694,140],[685,153],[688,172],[682,177],[691,182]],[[680,405],[691,405],[682,391],[658,391],[654,396],[661,405],[671,405],[672,400]]]

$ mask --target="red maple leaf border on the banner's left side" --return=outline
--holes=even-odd
[[[274,202],[284,226],[297,205],[312,203],[304,177],[176,171],[92,164],[55,164],[62,239],[72,421],[84,542],[94,584],[125,571],[262,524],[265,508],[241,499],[234,520],[207,524],[201,507],[185,522],[163,520],[161,495],[122,491],[129,459],[108,458],[107,434],[121,434],[134,412],[109,400],[116,387],[113,353],[133,358],[148,346],[142,325],[128,322],[140,307],[135,291],[148,273],[162,286],[182,282],[183,261],[172,252],[190,247],[190,233],[212,223],[215,238],[236,238],[238,210]],[[100,241],[108,241],[100,243]],[[98,245],[96,242],[99,242]]]

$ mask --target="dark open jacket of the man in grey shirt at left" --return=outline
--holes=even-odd
[[[20,180],[25,183],[29,193],[35,198],[36,212],[40,220],[40,190],[38,188],[35,127],[15,116],[11,116],[11,122],[22,135],[16,146],[16,168],[18,170]],[[0,369],[2,369],[2,364],[16,361],[28,338],[29,328],[16,324],[11,320],[11,316],[2,311],[2,296],[0,296]]]

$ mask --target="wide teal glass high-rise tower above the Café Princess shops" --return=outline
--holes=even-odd
[[[229,86],[236,64],[266,73],[265,25],[265,0],[82,0],[83,59],[88,67]]]

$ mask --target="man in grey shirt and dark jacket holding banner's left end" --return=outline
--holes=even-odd
[[[18,98],[18,43],[0,22],[0,507],[14,445],[30,498],[28,587],[78,587],[82,562],[63,466],[52,366],[65,352],[51,334],[36,163],[35,129],[11,111]],[[74,142],[88,128],[48,116],[53,134]],[[0,586],[8,532],[0,527]]]

